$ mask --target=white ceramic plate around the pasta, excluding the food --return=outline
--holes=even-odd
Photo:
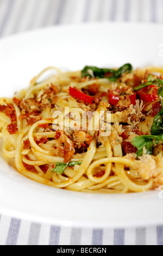
[[[41,29],[0,40],[1,95],[12,96],[47,66],[163,66],[161,25],[100,23]],[[37,184],[0,163],[0,212],[79,227],[163,224],[162,191],[87,194]]]

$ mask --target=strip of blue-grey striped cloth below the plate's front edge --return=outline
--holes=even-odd
[[[25,223],[25,224],[24,224]],[[3,216],[0,245],[163,245],[163,227],[85,229]]]

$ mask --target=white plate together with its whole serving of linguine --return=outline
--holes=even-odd
[[[163,223],[162,38],[140,44],[140,26],[0,41],[1,212],[85,227]]]

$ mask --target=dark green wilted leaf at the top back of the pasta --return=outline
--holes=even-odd
[[[96,66],[85,66],[82,70],[82,77],[89,76],[89,77],[98,77],[104,78],[106,73],[111,73],[112,76],[108,77],[108,79],[112,82],[116,82],[119,77],[122,76],[125,72],[131,72],[133,70],[133,66],[129,63],[124,64],[118,70],[114,69],[100,69]],[[91,71],[91,72],[90,72]]]

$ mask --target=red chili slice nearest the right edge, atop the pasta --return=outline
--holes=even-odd
[[[156,86],[147,86],[143,89],[137,90],[137,95],[139,96],[140,100],[146,101],[146,102],[153,102],[157,99],[159,99],[158,96],[158,87]]]

